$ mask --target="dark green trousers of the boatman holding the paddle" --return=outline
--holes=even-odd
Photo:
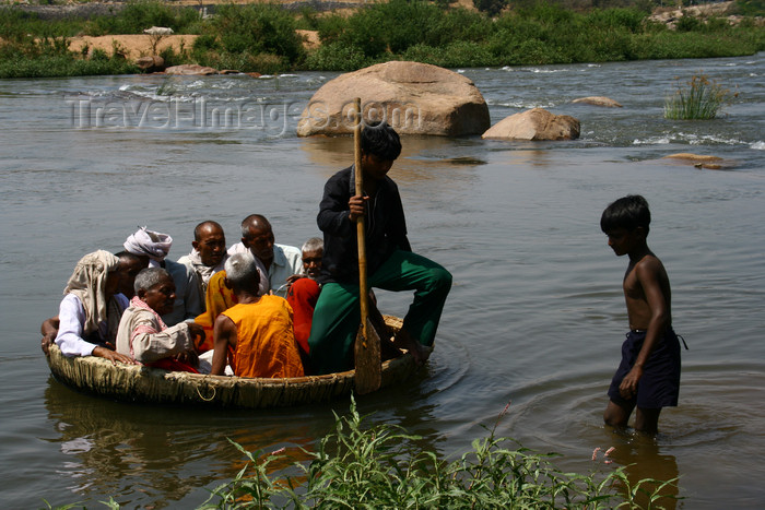
[[[370,288],[414,290],[414,301],[403,319],[403,329],[423,345],[433,345],[451,288],[451,274],[425,257],[397,250],[367,280]],[[353,342],[360,324],[358,284],[325,284],[308,339],[313,373],[353,368]]]

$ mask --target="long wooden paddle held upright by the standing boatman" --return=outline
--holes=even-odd
[[[362,100],[354,99],[355,124],[353,127],[354,170],[356,194],[364,194],[364,176],[362,174]],[[369,322],[369,287],[366,281],[366,222],[362,215],[356,218],[356,239],[358,244],[358,301],[361,307],[361,329],[354,347],[356,359],[356,393],[364,394],[380,388],[380,339]]]

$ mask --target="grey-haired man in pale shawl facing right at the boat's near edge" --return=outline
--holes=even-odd
[[[168,328],[160,317],[173,309],[175,283],[162,268],[144,269],[136,276],[136,296],[125,310],[117,332],[117,352],[152,367],[198,372],[193,336],[202,329],[193,322]]]

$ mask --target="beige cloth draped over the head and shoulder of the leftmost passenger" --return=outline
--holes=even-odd
[[[85,310],[85,334],[97,331],[98,323],[106,320],[106,278],[118,265],[119,259],[108,251],[94,251],[80,259],[67,282],[63,294],[74,294]]]

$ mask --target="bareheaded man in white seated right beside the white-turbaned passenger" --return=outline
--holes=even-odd
[[[178,259],[178,262],[197,273],[199,277],[200,303],[204,301],[210,278],[223,271],[223,264],[228,258],[226,253],[226,236],[223,227],[213,221],[205,221],[193,229],[191,253]]]

